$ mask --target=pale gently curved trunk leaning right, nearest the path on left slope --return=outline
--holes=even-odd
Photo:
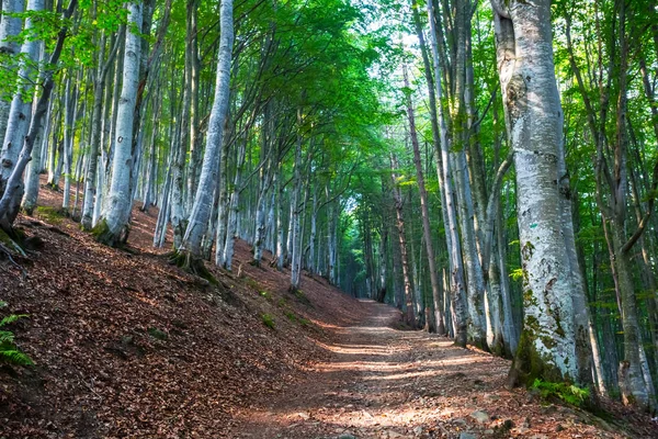
[[[190,214],[190,222],[181,244],[180,251],[192,258],[201,258],[201,243],[206,232],[211,210],[213,209],[213,189],[217,182],[217,154],[222,148],[224,123],[228,113],[230,60],[234,44],[232,0],[222,0],[219,11],[219,56],[217,60],[217,82],[215,101],[211,111],[206,148],[198,189]]]

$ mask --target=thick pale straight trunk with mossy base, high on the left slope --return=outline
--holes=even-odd
[[[94,235],[100,243],[109,246],[122,245],[127,239],[127,225],[131,218],[133,199],[131,196],[131,170],[133,168],[133,125],[139,63],[141,54],[141,4],[133,1],[128,5],[121,99],[116,109],[116,128],[112,159],[110,191],[103,205]]]

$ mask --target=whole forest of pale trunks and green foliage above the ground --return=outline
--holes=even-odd
[[[52,216],[204,288],[325,279],[509,360],[501,389],[657,413],[655,0],[0,4],[15,282]],[[30,368],[7,279],[0,363]]]

